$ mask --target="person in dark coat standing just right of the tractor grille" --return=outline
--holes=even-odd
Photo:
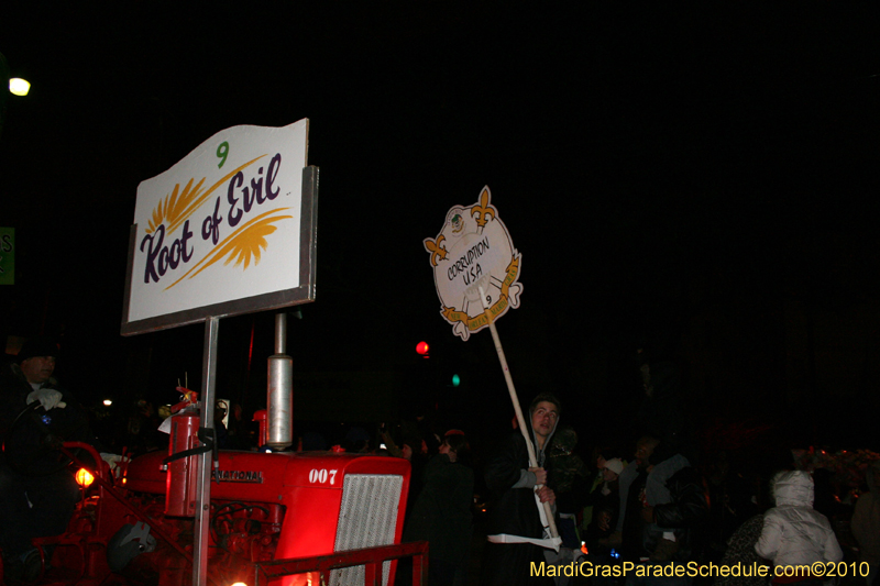
[[[432,586],[452,586],[458,573],[468,572],[474,500],[474,473],[461,463],[468,451],[463,432],[446,433],[439,453],[425,466],[421,493],[404,531],[404,541],[429,543]]]

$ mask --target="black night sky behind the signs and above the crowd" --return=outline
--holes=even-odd
[[[84,401],[197,388],[201,325],[119,334],[138,184],[220,130],[308,118],[304,427],[431,403],[509,422],[490,334],[452,334],[421,244],[487,185],[522,254],[498,330],[524,401],[554,390],[590,441],[628,433],[646,346],[681,366],[706,433],[878,449],[876,10],[618,4],[4,7],[0,53],[33,87],[0,134],[18,245],[0,334],[59,338]],[[272,312],[221,321],[219,396],[260,406],[272,330]]]

